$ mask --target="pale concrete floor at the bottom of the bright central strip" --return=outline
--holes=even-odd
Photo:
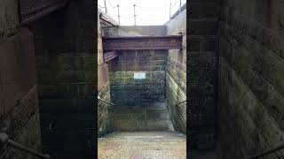
[[[186,136],[175,132],[112,133],[98,143],[99,159],[186,158]]]

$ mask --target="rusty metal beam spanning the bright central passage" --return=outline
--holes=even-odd
[[[103,37],[104,51],[182,49],[182,35]]]

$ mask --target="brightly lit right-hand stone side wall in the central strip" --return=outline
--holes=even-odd
[[[186,10],[171,19],[166,26],[167,34],[184,35],[183,48],[170,49],[167,57],[166,104],[175,129],[186,133]]]

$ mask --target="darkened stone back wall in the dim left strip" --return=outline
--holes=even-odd
[[[38,19],[36,73],[44,153],[91,158],[96,140],[95,2],[71,2]]]

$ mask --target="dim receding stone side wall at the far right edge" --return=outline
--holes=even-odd
[[[223,158],[246,158],[284,139],[284,3],[221,4],[219,144]]]

